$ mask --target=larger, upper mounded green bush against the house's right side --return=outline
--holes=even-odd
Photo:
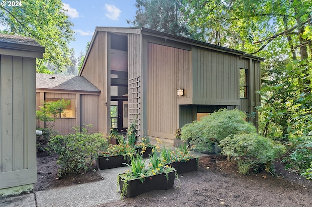
[[[200,121],[192,121],[181,128],[182,140],[188,140],[193,150],[212,151],[211,144],[218,143],[231,134],[254,133],[256,128],[245,121],[246,114],[237,109],[220,109]]]

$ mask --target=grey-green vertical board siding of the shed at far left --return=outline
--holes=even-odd
[[[35,58],[0,55],[0,189],[36,182]]]

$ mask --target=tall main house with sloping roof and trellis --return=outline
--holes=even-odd
[[[172,142],[177,128],[220,108],[255,113],[260,62],[245,52],[147,28],[96,27],[79,76],[101,90],[99,131],[137,124]]]

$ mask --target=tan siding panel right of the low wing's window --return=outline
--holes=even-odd
[[[88,132],[99,132],[99,96],[81,95],[80,106],[81,126],[92,124]]]

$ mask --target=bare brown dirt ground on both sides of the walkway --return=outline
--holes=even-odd
[[[57,158],[37,154],[35,191],[103,179],[94,171],[58,179]],[[312,182],[284,170],[280,162],[275,163],[275,169],[274,176],[266,172],[241,175],[224,157],[204,156],[199,159],[199,170],[179,175],[179,182],[176,180],[172,189],[155,190],[100,207],[311,207]]]

